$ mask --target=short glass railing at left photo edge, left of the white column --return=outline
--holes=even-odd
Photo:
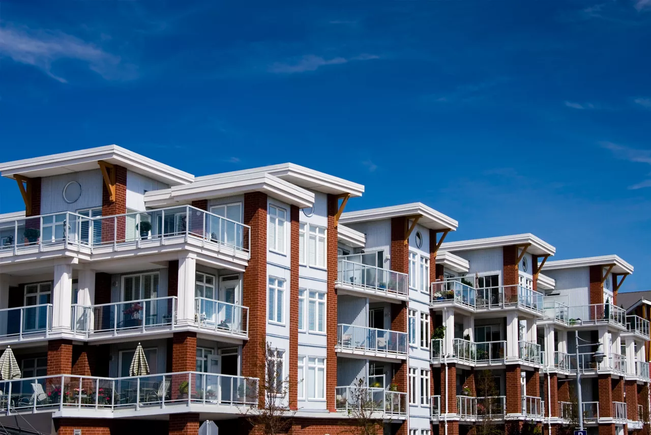
[[[52,304],[0,309],[0,339],[21,341],[30,335],[45,335],[52,330]]]

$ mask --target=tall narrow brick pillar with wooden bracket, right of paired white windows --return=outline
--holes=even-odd
[[[326,350],[326,371],[329,373],[326,379],[326,406],[329,412],[336,412],[335,389],[337,387],[337,227],[335,227],[335,215],[339,210],[337,196],[327,195],[327,300],[326,300],[326,329],[327,329],[327,350]]]

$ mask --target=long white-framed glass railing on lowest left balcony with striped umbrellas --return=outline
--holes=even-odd
[[[98,378],[70,374],[0,381],[2,410],[85,408],[118,410],[147,406],[214,404],[256,406],[258,379],[201,372]],[[235,412],[235,411],[234,411]]]

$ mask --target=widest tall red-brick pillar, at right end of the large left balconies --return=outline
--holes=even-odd
[[[245,193],[243,217],[244,223],[251,227],[251,231],[244,234],[243,245],[248,246],[250,237],[251,259],[242,279],[242,304],[249,307],[249,339],[242,346],[242,375],[260,379],[258,400],[263,404],[267,343],[267,195]]]

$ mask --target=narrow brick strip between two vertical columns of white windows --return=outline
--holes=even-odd
[[[290,209],[290,284],[289,284],[289,407],[298,410],[298,274],[299,208]],[[331,254],[330,252],[328,252]],[[334,253],[337,255],[337,249]],[[328,394],[331,391],[328,391]]]

